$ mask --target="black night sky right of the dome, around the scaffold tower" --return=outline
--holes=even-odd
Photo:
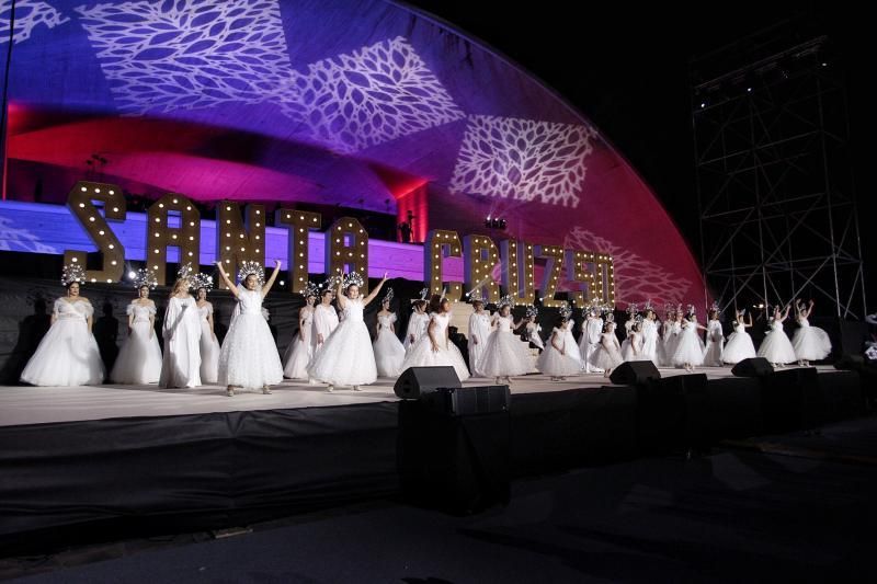
[[[853,172],[868,286],[877,301],[877,211],[867,136],[875,128],[875,50],[861,8],[843,2],[629,3],[408,2],[480,38],[589,117],[651,185],[699,253],[690,61],[779,24],[798,42],[824,34],[847,78]],[[524,9],[526,7],[526,9]],[[585,12],[588,16],[577,16]],[[783,23],[786,24],[783,24]],[[790,22],[790,23],[789,23]],[[870,59],[870,62],[868,62]],[[747,65],[741,61],[738,66]],[[636,218],[612,218],[635,227]]]

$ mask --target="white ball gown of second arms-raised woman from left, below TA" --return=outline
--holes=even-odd
[[[344,302],[344,317],[314,356],[308,375],[330,386],[365,386],[377,380],[372,336],[360,298]]]

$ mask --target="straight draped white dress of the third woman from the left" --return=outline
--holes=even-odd
[[[201,385],[201,317],[195,299],[172,297],[161,327],[164,356],[161,360],[161,387]]]

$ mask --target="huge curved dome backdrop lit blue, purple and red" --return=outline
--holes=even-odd
[[[0,2],[4,49],[10,3]],[[136,193],[412,210],[415,236],[429,226],[610,252],[622,305],[705,302],[679,230],[599,129],[409,7],[20,0],[15,10],[9,198],[61,202],[92,160],[102,180]],[[570,59],[569,75],[578,66]],[[487,216],[508,229],[486,230]]]

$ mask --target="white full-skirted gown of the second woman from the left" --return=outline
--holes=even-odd
[[[157,383],[161,377],[161,347],[150,321],[156,316],[156,305],[151,301],[148,306],[132,302],[126,312],[134,317],[134,321],[110,371],[110,379],[116,383]]]

